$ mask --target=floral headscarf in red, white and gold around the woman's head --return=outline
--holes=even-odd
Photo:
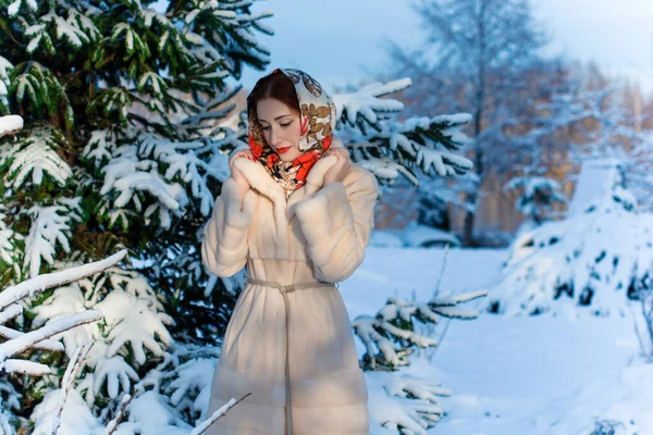
[[[292,162],[281,160],[276,151],[267,144],[258,119],[251,116],[251,111],[255,111],[256,107],[248,108],[250,114],[248,138],[254,157],[284,188],[287,197],[304,185],[312,165],[331,146],[336,117],[335,104],[316,79],[294,69],[276,69],[270,75],[279,73],[288,77],[297,91],[301,126],[299,150],[304,153]],[[254,89],[259,86],[259,83],[260,80]]]

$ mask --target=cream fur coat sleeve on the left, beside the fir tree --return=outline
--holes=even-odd
[[[243,199],[239,198],[236,182],[232,177],[222,184],[201,243],[201,260],[214,275],[232,276],[245,266],[254,200],[251,190]]]

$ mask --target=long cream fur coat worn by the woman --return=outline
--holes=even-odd
[[[281,285],[350,276],[365,258],[379,190],[373,174],[355,163],[341,183],[323,187],[335,161],[318,161],[286,200],[260,163],[236,160],[251,189],[239,198],[235,182],[224,182],[204,232],[209,271],[231,276],[247,264],[250,278]],[[208,414],[247,393],[208,434],[368,434],[367,385],[337,288],[282,296],[274,287],[245,287],[224,335]]]

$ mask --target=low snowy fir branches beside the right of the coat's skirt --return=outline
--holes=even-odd
[[[439,345],[430,335],[418,333],[418,324],[438,324],[443,318],[477,319],[478,310],[458,306],[486,295],[484,290],[456,296],[436,291],[428,302],[393,297],[374,316],[359,315],[353,321],[366,348],[361,366],[367,372],[370,412],[382,427],[391,433],[426,435],[442,419],[438,397],[452,393],[433,380],[401,374],[399,368],[410,364],[409,356],[417,348]]]

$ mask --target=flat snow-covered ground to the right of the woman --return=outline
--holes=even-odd
[[[375,313],[391,296],[411,299],[415,293],[427,300],[443,253],[368,248],[364,264],[340,287],[350,318]],[[503,250],[452,249],[442,290],[489,287],[505,256]],[[653,434],[653,364],[638,356],[630,318],[482,313],[471,322],[452,321],[432,363],[415,358],[403,370],[435,376],[453,390],[441,401],[446,417],[429,433],[590,435],[615,421],[620,424],[615,423],[614,432],[595,434]]]

